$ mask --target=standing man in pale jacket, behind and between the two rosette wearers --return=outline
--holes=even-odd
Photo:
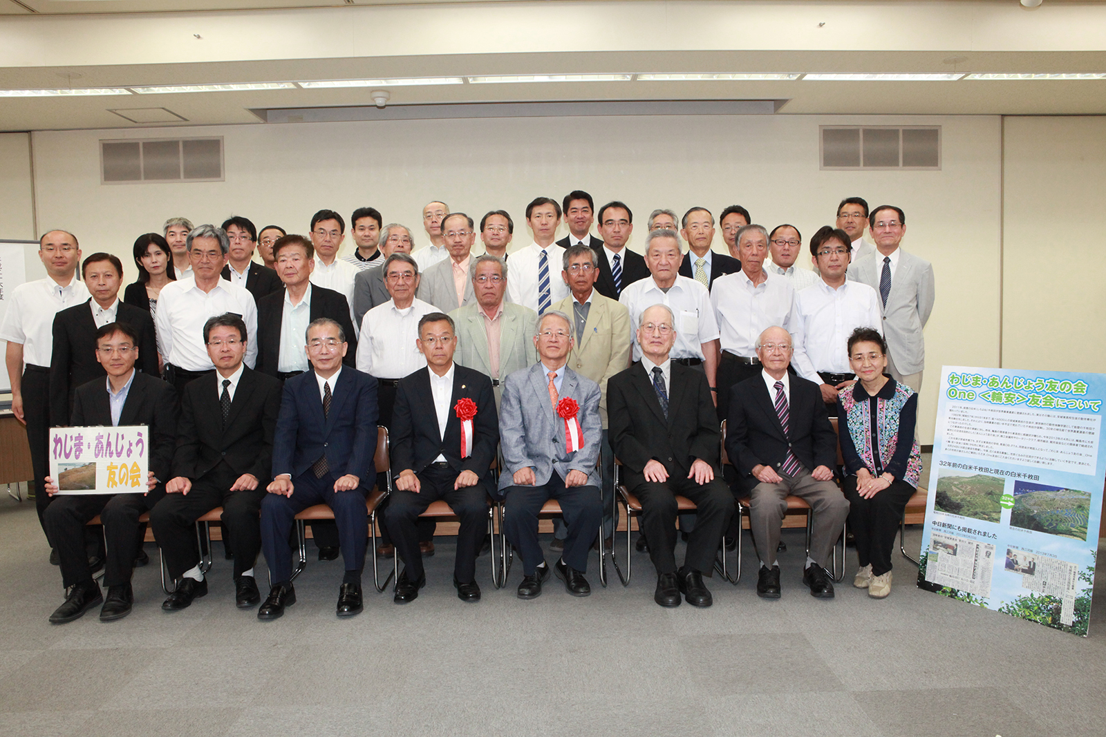
[[[538,360],[532,338],[538,331],[538,313],[503,301],[507,263],[499,256],[476,256],[469,269],[476,302],[449,313],[457,324],[453,360],[491,377],[499,407],[501,380]]]

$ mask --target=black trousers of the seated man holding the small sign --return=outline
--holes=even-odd
[[[138,517],[164,495],[161,486],[149,494],[55,495],[43,514],[43,524],[50,545],[58,550],[62,585],[69,588],[92,580],[88,554],[84,546],[84,528],[96,515],[100,515],[104,524],[107,552],[104,586],[129,583],[144,533]]]

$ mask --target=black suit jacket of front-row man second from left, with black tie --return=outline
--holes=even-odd
[[[226,461],[236,475],[253,474],[264,486],[272,473],[281,382],[243,367],[223,427],[220,381],[212,371],[185,387],[173,475],[195,481]]]

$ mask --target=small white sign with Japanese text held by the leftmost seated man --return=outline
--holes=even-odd
[[[144,494],[146,425],[51,428],[50,475],[59,494]]]

